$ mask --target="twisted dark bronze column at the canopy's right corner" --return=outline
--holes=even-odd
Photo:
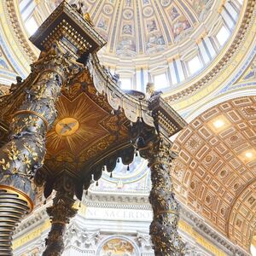
[[[150,236],[156,256],[183,256],[185,247],[177,233],[179,205],[174,198],[170,167],[177,154],[170,149],[172,143],[160,138],[140,149],[140,154],[148,160],[151,170],[152,189],[149,201],[154,218],[150,225]]]

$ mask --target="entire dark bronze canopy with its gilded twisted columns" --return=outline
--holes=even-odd
[[[0,131],[10,127],[9,142],[0,149],[0,217],[11,223],[7,231],[0,228],[0,240],[5,241],[0,249],[12,255],[15,224],[32,210],[34,178],[38,186],[44,185],[46,198],[56,190],[47,210],[52,225],[44,256],[61,255],[66,225],[77,212],[74,196],[81,200],[83,190],[101,178],[103,168],[113,172],[119,158],[129,165],[137,149],[152,172],[155,254],[183,255],[168,137],[185,122],[153,84],[148,85],[148,98],[120,90],[118,78],[96,56],[105,40],[81,6],[73,7],[64,1],[38,28],[31,40],[42,52],[32,73],[18,79],[9,96],[0,97]],[[5,211],[13,217],[8,219]]]

